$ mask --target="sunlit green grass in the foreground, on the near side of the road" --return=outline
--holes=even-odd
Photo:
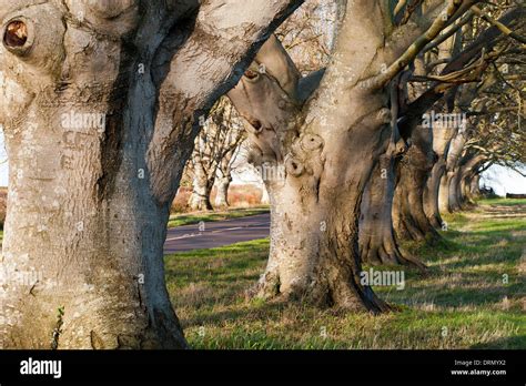
[[[403,291],[375,287],[398,312],[251,298],[269,240],[166,256],[169,292],[193,348],[526,348],[526,217],[484,203],[448,216],[437,245],[408,245],[428,276],[406,271]],[[517,209],[526,213],[526,200]]]

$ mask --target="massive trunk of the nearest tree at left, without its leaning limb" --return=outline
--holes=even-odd
[[[75,7],[107,26],[108,13],[95,13],[104,6]],[[151,111],[135,104],[144,94],[129,84],[149,83],[129,71],[136,57],[119,41],[139,28],[138,8],[117,11],[118,39],[107,40],[67,29],[61,7],[34,4],[16,12],[38,37],[30,53],[0,48],[8,88],[23,95],[8,101],[14,116],[2,114],[11,161],[3,348],[185,347],[160,258],[168,206],[139,179],[138,149],[120,146],[140,142],[134,122]]]

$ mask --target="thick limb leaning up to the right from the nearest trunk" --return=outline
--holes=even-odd
[[[146,155],[150,185],[159,203],[175,193],[183,166],[178,160],[191,152],[191,146],[181,143],[192,143],[200,116],[235,85],[270,33],[302,2],[252,0],[240,7],[236,0],[205,1],[195,20],[189,21],[186,39],[166,42],[175,45],[168,50],[175,54],[161,81]]]

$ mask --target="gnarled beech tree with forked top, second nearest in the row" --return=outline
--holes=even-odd
[[[471,4],[426,2],[423,12],[408,12],[412,20],[397,23],[385,3],[341,3],[331,63],[306,102],[308,83],[316,82],[300,80],[275,40],[230,92],[252,125],[256,162],[282,163],[286,171],[284,180],[267,184],[272,245],[261,294],[350,309],[387,308],[360,283],[357,246],[363,191],[380,156],[398,142],[393,80]],[[265,74],[256,71],[261,63]]]

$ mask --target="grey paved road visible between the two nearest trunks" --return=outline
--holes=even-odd
[[[244,241],[265,238],[271,224],[270,213],[204,223],[204,231],[199,224],[184,225],[168,230],[164,254],[213,248]]]

